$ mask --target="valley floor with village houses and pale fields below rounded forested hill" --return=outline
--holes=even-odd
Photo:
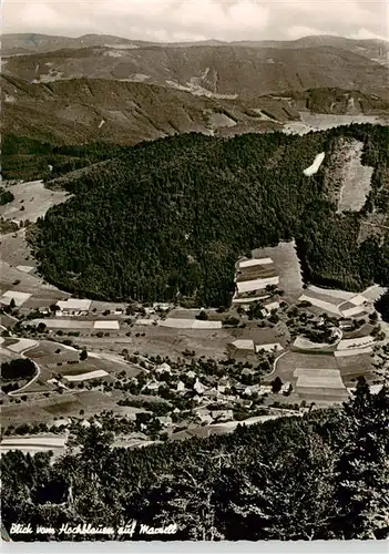
[[[74,298],[42,280],[27,240],[65,195],[34,182],[24,196],[1,213],[2,452],[57,455],[91,425],[126,448],[227,433],[385,382],[385,290],[306,286],[294,242],[236,261],[228,309]]]

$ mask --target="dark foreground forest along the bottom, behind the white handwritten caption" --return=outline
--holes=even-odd
[[[162,540],[386,538],[388,417],[388,390],[371,394],[360,379],[342,407],[209,439],[112,449],[92,425],[53,463],[50,453],[2,456],[2,521],[7,530],[175,523],[175,535],[152,536]]]

